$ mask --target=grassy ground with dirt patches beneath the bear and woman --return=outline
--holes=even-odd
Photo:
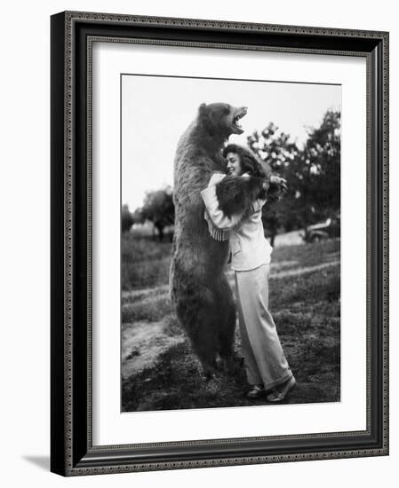
[[[245,397],[238,327],[233,373],[201,380],[168,297],[171,244],[129,233],[122,256],[122,410],[267,404]],[[339,304],[339,240],[303,244],[298,232],[278,236],[270,310],[298,382],[286,403],[339,401]]]

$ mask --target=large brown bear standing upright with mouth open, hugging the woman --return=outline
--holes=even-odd
[[[235,335],[235,301],[227,283],[228,240],[211,237],[204,219],[201,191],[214,171],[226,172],[221,151],[231,134],[242,134],[246,107],[202,104],[194,122],[180,138],[174,161],[175,232],[170,288],[180,325],[186,330],[203,367],[205,379],[217,371],[217,359],[228,366]],[[265,192],[262,177],[225,177],[220,207],[249,211]],[[218,186],[219,186],[218,185]],[[224,186],[224,187],[223,187]]]

